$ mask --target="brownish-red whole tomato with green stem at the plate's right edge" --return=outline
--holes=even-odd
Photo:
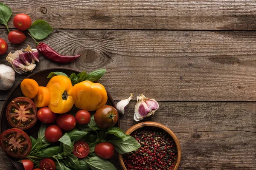
[[[118,113],[112,106],[104,105],[96,111],[94,119],[100,128],[110,128],[116,125]]]

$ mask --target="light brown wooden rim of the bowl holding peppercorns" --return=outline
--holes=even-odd
[[[157,123],[157,122],[141,122],[138,123],[136,125],[133,125],[132,127],[130,127],[125,133],[130,135],[132,132],[134,132],[135,130],[141,128],[141,127],[146,127],[146,126],[153,126],[153,127],[158,127],[160,129],[165,130],[167,133],[169,133],[170,136],[172,136],[172,139],[174,140],[176,147],[177,147],[177,159],[174,162],[174,167],[172,168],[172,170],[177,170],[179,165],[180,165],[180,159],[181,159],[181,148],[180,148],[180,142],[177,139],[176,135],[172,132],[172,130],[170,130],[168,127]],[[121,164],[121,167],[123,170],[127,170],[122,158],[122,154],[119,154],[118,156],[119,162]]]

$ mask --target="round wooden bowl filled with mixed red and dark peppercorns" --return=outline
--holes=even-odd
[[[123,170],[177,170],[180,165],[180,142],[168,127],[157,122],[142,122],[126,134],[140,143],[140,148],[119,154]]]

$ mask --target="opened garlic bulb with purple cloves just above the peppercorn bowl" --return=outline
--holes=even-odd
[[[143,94],[137,96],[137,103],[134,109],[134,120],[136,122],[154,114],[159,108],[159,104],[154,99],[148,99]]]

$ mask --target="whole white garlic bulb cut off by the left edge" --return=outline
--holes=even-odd
[[[8,90],[15,82],[15,71],[4,64],[0,64],[0,90]]]

